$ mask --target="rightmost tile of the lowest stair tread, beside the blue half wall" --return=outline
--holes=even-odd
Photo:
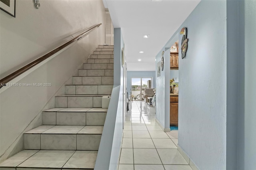
[[[63,168],[94,168],[98,151],[77,150]]]

